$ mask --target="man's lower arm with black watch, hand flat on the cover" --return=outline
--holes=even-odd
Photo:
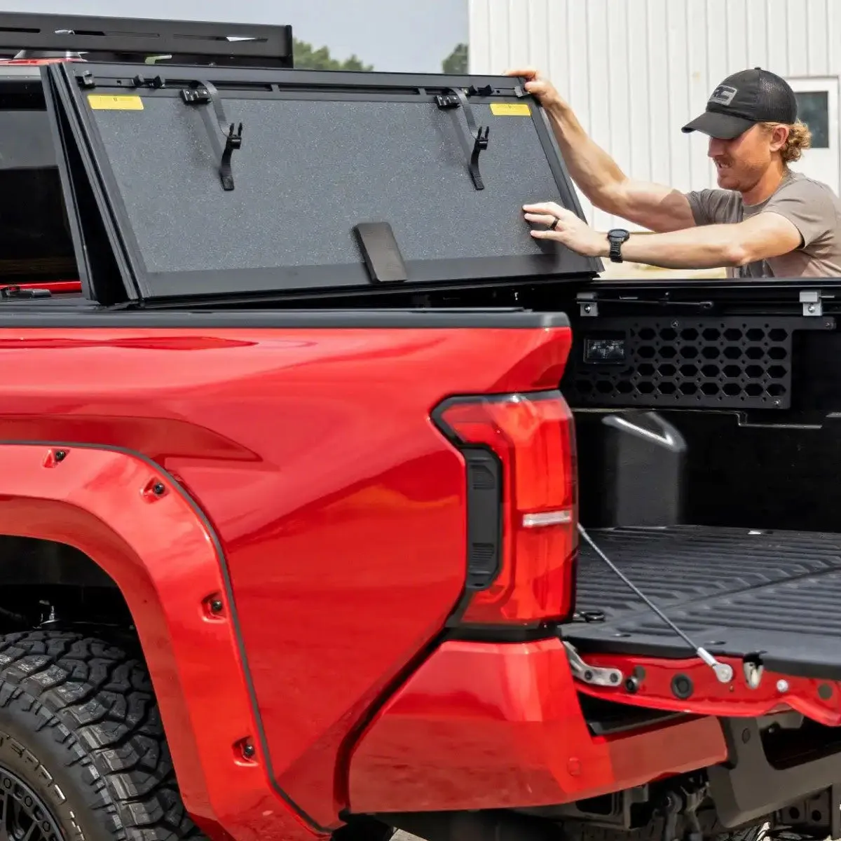
[[[571,211],[553,202],[526,204],[526,220],[554,230],[532,230],[536,240],[553,240],[588,257],[609,257],[607,235],[593,230]],[[662,268],[723,268],[780,257],[801,246],[800,231],[790,220],[764,211],[743,222],[703,225],[663,234],[632,234],[622,258]]]

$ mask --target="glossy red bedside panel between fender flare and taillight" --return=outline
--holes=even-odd
[[[462,457],[429,413],[450,394],[555,387],[569,339],[565,329],[4,329],[0,441],[124,447],[198,500],[230,570],[263,728],[252,802],[273,777],[329,827],[347,805],[358,728],[440,632],[463,585]],[[47,485],[59,475],[38,469]],[[34,520],[42,503],[32,493]],[[181,539],[173,526],[167,586],[193,574]],[[172,615],[164,594],[136,600],[149,611],[147,636],[192,634],[182,611],[198,616],[193,587],[185,598]],[[206,668],[238,668],[194,639]],[[184,691],[190,709],[241,732],[230,703],[198,683]],[[184,722],[169,713],[166,724]],[[227,785],[228,739],[222,748],[228,761],[204,771]],[[196,775],[184,780],[196,792],[205,781],[184,756],[179,770]],[[284,806],[272,802],[262,811],[276,819]],[[243,798],[232,785],[230,808],[214,810],[234,808]],[[237,837],[251,837],[246,823],[232,818]]]

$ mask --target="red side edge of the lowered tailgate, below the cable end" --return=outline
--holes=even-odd
[[[649,710],[681,711],[691,707],[701,715],[725,718],[755,718],[794,710],[826,727],[841,727],[841,683],[836,680],[776,674],[765,669],[759,685],[752,689],[740,659],[718,658],[733,668],[735,677],[730,684],[720,683],[712,669],[698,659],[664,660],[608,654],[587,654],[584,659],[593,666],[621,669],[622,674],[633,674],[637,667],[644,669],[645,678],[636,692],[628,692],[624,687],[581,686],[582,692],[609,701]],[[685,674],[692,681],[690,698],[674,697],[671,683],[676,674]]]

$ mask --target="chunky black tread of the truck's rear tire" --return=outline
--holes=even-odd
[[[145,665],[74,632],[0,637],[0,711],[33,712],[114,841],[199,841]]]

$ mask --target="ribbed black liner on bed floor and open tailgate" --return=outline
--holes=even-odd
[[[711,653],[759,653],[773,671],[841,679],[841,534],[673,526],[590,537]],[[578,611],[604,614],[563,628],[582,652],[694,656],[586,543]]]

